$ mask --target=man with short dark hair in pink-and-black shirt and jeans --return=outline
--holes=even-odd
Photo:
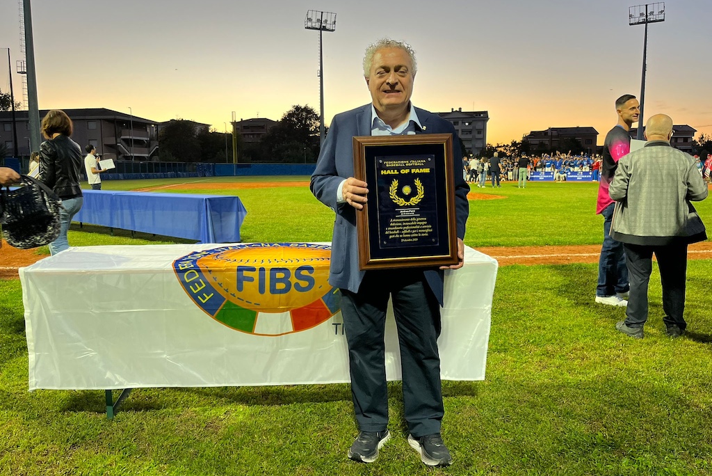
[[[608,195],[618,161],[630,152],[630,126],[637,122],[640,103],[632,94],[616,100],[617,125],[609,130],[603,145],[601,179],[598,182],[596,213],[603,215],[603,245],[598,260],[598,285],[596,302],[609,306],[627,306],[629,294],[628,269],[625,264],[623,244],[610,236],[614,201]]]

